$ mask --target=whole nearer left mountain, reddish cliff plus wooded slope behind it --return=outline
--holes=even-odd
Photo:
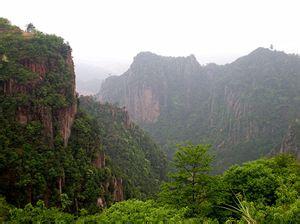
[[[71,47],[0,18],[0,195],[99,211],[151,196],[165,157],[127,112],[78,98]]]

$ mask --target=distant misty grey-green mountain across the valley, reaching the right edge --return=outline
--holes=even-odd
[[[181,141],[212,144],[222,170],[280,151],[300,116],[300,58],[258,48],[231,64],[201,66],[193,55],[142,52],[105,80],[98,98],[125,106],[169,156]]]

